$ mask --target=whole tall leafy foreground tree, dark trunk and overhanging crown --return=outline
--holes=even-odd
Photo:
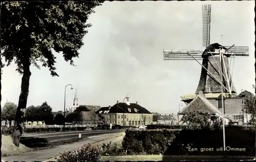
[[[103,2],[103,1],[102,1]],[[88,2],[3,2],[1,3],[1,58],[6,65],[14,60],[22,75],[21,90],[13,128],[13,143],[18,147],[29,95],[30,65],[48,67],[51,76],[58,76],[54,66],[57,53],[73,65],[83,37],[88,33],[88,16],[99,6]],[[1,61],[1,67],[4,63]]]

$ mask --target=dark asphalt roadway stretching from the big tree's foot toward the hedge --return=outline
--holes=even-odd
[[[81,137],[92,137],[101,134],[112,134],[123,132],[124,129],[113,129],[113,130],[88,130],[88,131],[67,131],[67,132],[55,132],[55,133],[44,133],[44,134],[23,134],[20,138],[20,143],[27,146],[27,144],[36,143],[48,143],[59,140],[69,140],[77,138],[78,134]]]

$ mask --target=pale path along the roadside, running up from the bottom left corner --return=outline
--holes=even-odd
[[[115,138],[117,138],[120,135],[123,136],[124,134],[125,134],[124,132],[121,132],[121,133],[119,132],[119,133],[113,133],[113,134],[95,135],[95,136],[91,136],[89,139],[85,141],[68,144],[68,145],[61,145],[48,150],[29,151],[29,152],[23,153],[22,155],[17,155],[17,156],[7,156],[7,157],[3,157],[4,158],[3,160],[4,161],[45,161],[49,159],[49,161],[53,161],[54,159],[50,159],[50,158],[59,156],[63,152],[76,150],[79,147],[83,146],[84,144],[89,144],[89,143],[94,144],[97,142],[108,143],[109,141],[111,141],[111,138],[112,138],[112,141],[114,142]]]

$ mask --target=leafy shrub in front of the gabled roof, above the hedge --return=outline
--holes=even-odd
[[[185,114],[181,121],[191,128],[221,128],[222,119],[209,113],[193,111]]]

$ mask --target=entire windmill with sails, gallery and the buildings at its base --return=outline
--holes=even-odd
[[[178,120],[179,115],[199,111],[220,115],[225,121],[235,124],[246,124],[249,117],[243,111],[243,101],[249,92],[237,94],[232,80],[231,63],[237,56],[249,56],[249,47],[210,44],[211,5],[203,5],[202,11],[205,50],[163,50],[164,60],[193,60],[202,67],[196,92],[181,97],[186,106],[178,112]]]

